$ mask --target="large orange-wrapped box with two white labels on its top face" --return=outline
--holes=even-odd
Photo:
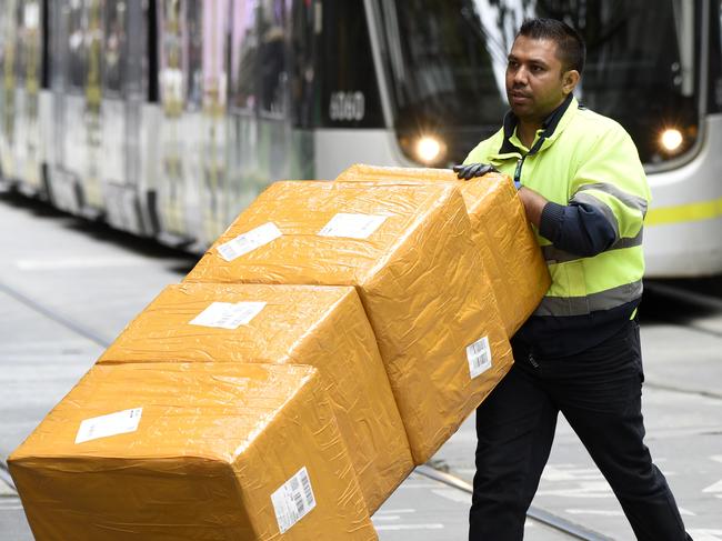
[[[278,182],[185,280],[355,285],[423,463],[512,362],[470,236],[452,183]]]

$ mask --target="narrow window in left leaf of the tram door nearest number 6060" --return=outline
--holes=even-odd
[[[237,110],[253,111],[258,63],[258,32],[253,2],[233,0],[230,57],[230,104]]]

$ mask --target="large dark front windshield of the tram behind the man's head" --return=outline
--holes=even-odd
[[[696,6],[690,0],[379,0],[401,146],[419,159],[414,141],[434,133],[443,151],[427,161],[462,160],[499,128],[508,109],[507,54],[521,22],[551,17],[571,23],[586,41],[575,92],[580,101],[621,122],[644,162],[679,156],[693,143],[699,120]],[[665,131],[673,136],[669,146]]]

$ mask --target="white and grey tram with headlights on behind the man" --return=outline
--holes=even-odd
[[[275,179],[448,167],[500,126],[528,17],[588,43],[579,99],[636,142],[649,277],[722,272],[715,0],[4,0],[3,182],[203,250]]]

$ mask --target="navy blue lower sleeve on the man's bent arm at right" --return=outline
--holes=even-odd
[[[576,202],[566,207],[548,202],[542,210],[539,232],[555,248],[583,258],[603,252],[616,240],[613,226],[601,211]]]

